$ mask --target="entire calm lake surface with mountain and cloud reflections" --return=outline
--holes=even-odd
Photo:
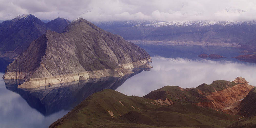
[[[17,89],[0,80],[0,127],[48,127],[90,94],[106,88],[144,96],[167,85],[191,88],[214,80],[233,81],[236,77],[246,78],[249,84],[256,85],[256,65],[231,58],[241,55],[235,48],[140,46],[152,57],[150,71],[134,69],[135,73],[124,77],[90,79],[37,89]],[[197,56],[202,53],[227,58],[202,59]]]

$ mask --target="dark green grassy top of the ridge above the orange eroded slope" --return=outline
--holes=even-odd
[[[179,102],[183,104],[210,102],[208,99],[206,99],[205,95],[201,94],[198,90],[205,93],[210,93],[233,87],[236,84],[238,83],[225,80],[216,80],[209,85],[204,83],[196,88],[190,89],[182,89],[178,86],[165,86],[163,88],[150,92],[149,94],[145,95],[144,98],[151,98],[155,100],[165,100],[166,98],[169,98],[174,102]]]

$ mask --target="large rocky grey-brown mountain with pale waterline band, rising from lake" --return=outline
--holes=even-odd
[[[65,83],[133,73],[132,68],[152,68],[151,57],[139,46],[78,18],[57,33],[46,31],[7,66],[6,84],[20,88]],[[7,82],[8,80],[8,82]],[[9,82],[9,80],[13,80]]]

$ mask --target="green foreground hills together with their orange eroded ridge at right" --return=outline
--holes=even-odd
[[[241,116],[227,114],[224,108],[245,97],[251,88],[238,77],[197,88],[165,86],[144,97],[106,89],[92,94],[49,127],[226,127]]]

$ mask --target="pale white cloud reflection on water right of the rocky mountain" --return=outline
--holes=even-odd
[[[249,84],[256,86],[254,63],[237,61],[186,58],[152,57],[148,72],[141,72],[128,79],[116,89],[127,95],[144,96],[150,91],[164,86],[180,86],[182,88],[197,87],[202,83],[210,84],[214,80],[233,81],[237,77],[245,78]]]

